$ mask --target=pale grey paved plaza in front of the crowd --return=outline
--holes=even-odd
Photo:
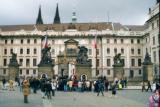
[[[29,103],[23,103],[23,94],[16,91],[0,90],[0,107],[146,107],[151,92],[120,90],[117,97],[111,92],[96,96],[93,92],[56,92],[51,100],[42,99],[41,93],[31,93]]]

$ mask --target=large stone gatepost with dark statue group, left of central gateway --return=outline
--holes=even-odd
[[[50,56],[50,49],[51,47],[45,47],[42,49],[42,58],[38,64],[38,78],[41,78],[43,74],[45,74],[48,78],[53,78],[54,76],[54,64],[52,63]]]

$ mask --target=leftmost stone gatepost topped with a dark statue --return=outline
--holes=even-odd
[[[19,64],[17,62],[17,54],[12,52],[12,57],[10,59],[9,65],[8,65],[8,79],[9,80],[15,80],[15,78],[18,78],[19,76]]]

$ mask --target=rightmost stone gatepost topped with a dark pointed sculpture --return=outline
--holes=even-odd
[[[142,63],[143,81],[153,81],[153,63],[148,52],[145,55],[144,62]]]

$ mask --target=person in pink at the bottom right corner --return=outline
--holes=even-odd
[[[160,103],[160,95],[159,90],[156,90],[153,95],[150,96],[148,101],[148,107],[159,107]]]

